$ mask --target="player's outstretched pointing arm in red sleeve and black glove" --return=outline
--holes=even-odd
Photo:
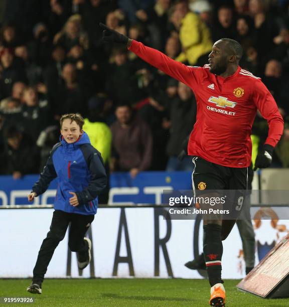
[[[130,51],[135,53],[143,61],[146,61],[167,75],[192,87],[194,74],[190,67],[169,58],[164,53],[156,49],[147,47],[140,42],[129,39],[127,36],[124,36],[117,31],[108,28],[102,23],[99,25],[103,29],[103,41],[126,45]]]

